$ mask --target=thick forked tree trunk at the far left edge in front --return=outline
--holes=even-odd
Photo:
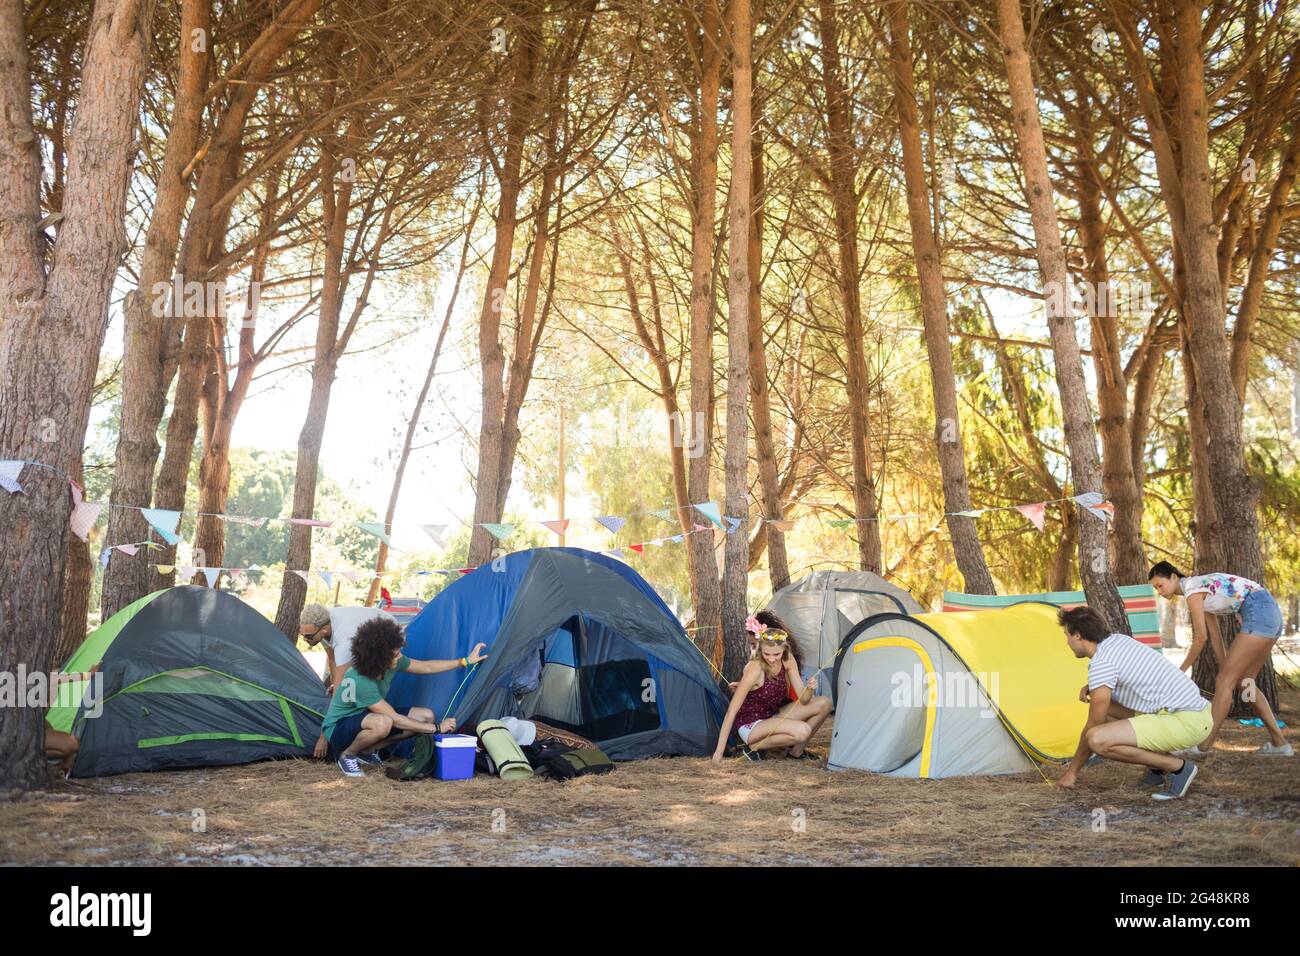
[[[0,494],[0,672],[47,671],[62,611],[68,475],[81,462],[113,277],[125,252],[126,187],[148,57],[152,0],[98,0],[69,137],[64,219],[40,222],[40,143],[21,0],[0,0],[0,449],[29,466]],[[47,268],[48,265],[48,268]],[[0,792],[48,779],[44,711],[0,708]]]

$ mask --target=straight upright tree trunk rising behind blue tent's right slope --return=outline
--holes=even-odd
[[[688,27],[701,64],[699,101],[692,137],[690,220],[690,415],[679,420],[679,441],[690,460],[686,493],[692,505],[710,499],[708,460],[714,431],[714,246],[718,208],[718,90],[722,83],[722,31],[718,4],[703,0],[701,30]],[[681,514],[690,531],[697,515]],[[694,550],[692,602],[696,611],[696,643],[708,657],[722,641],[722,587],[711,535],[690,535]]]

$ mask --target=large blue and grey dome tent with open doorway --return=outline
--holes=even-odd
[[[484,564],[407,626],[406,654],[489,658],[455,702],[462,726],[536,718],[594,740],[614,760],[706,756],[727,701],[703,654],[636,571],[594,551],[538,548]],[[395,706],[439,717],[464,671],[398,674]]]

